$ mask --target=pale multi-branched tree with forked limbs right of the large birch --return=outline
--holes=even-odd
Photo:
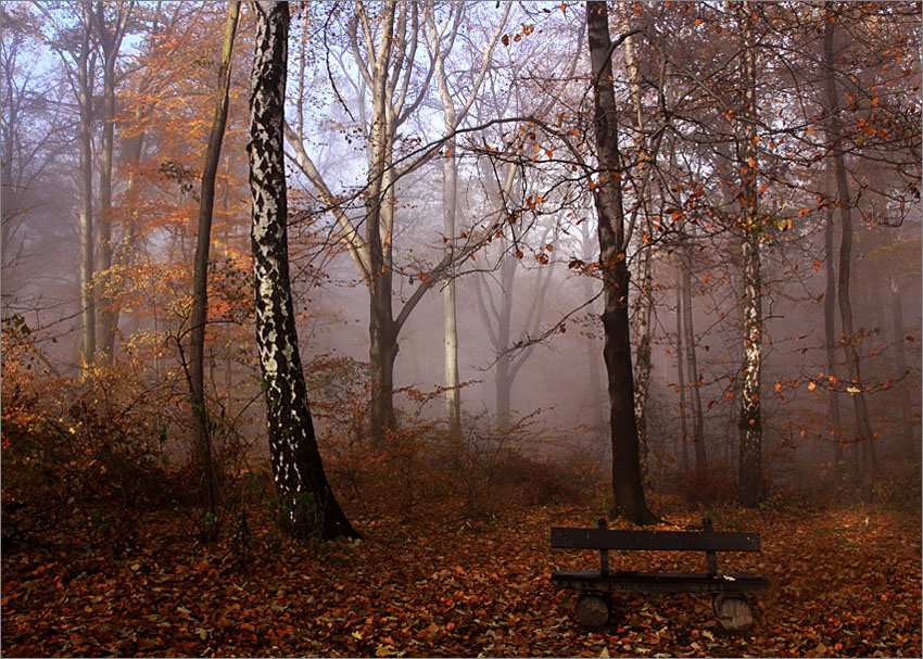
[[[389,2],[380,5],[380,11],[357,2],[346,20],[347,49],[355,64],[353,69],[361,77],[356,85],[359,103],[356,114],[367,161],[358,194],[336,194],[305,150],[301,119],[295,127],[286,126],[294,162],[316,197],[332,212],[338,239],[349,250],[368,290],[370,426],[376,440],[395,429],[394,362],[400,347],[397,338],[407,318],[427,292],[457,276],[455,266],[485,244],[506,217],[497,214],[489,218],[477,237],[469,233],[468,238],[456,241],[453,250],[446,250],[431,268],[417,271],[415,290],[395,315],[394,273],[401,270],[394,264],[394,223],[400,207],[397,187],[404,177],[429,162],[446,139],[437,138],[418,147],[415,140],[399,132],[422,104],[433,76],[434,62],[417,72],[421,60],[417,49],[427,11],[430,9],[419,2]],[[350,68],[352,63],[343,67]],[[460,122],[463,114],[455,118]],[[363,200],[361,219],[349,213],[350,201],[354,199]],[[363,232],[359,232],[361,223],[365,224]],[[443,238],[456,240],[451,236]]]

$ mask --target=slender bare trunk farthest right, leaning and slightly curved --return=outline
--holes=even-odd
[[[856,347],[858,337],[852,326],[852,303],[849,297],[849,278],[852,257],[852,200],[849,193],[849,181],[846,178],[846,164],[840,148],[842,125],[839,122],[839,99],[836,91],[834,72],[836,56],[834,40],[836,36],[835,14],[833,3],[825,3],[827,21],[824,22],[824,64],[827,69],[825,91],[827,111],[827,136],[830,139],[830,157],[834,159],[836,173],[836,205],[839,207],[840,242],[839,242],[839,322],[843,328],[843,350],[846,353],[846,371],[850,386],[855,389],[852,406],[856,410],[856,424],[859,441],[862,444],[862,470],[859,478],[862,500],[872,500],[872,486],[875,483],[875,436],[869,423],[869,413],[865,407],[865,394],[862,391],[862,376],[859,365],[859,352]]]

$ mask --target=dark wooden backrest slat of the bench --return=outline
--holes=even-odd
[[[620,531],[552,527],[556,549],[648,549],[655,552],[759,552],[758,533]]]

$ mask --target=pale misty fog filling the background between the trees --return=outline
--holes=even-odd
[[[287,121],[333,199],[306,174],[288,143],[289,251],[318,442],[323,453],[337,455],[347,438],[361,441],[367,432],[369,290],[337,213],[358,232],[365,230],[372,106],[363,75],[368,75],[370,51],[362,47],[356,55],[351,46],[350,8],[337,5],[327,16],[312,9],[317,7],[299,9],[292,18]],[[97,322],[99,309],[118,314],[111,360],[83,354],[81,117],[74,98],[74,35],[80,16],[75,8],[62,3],[39,11],[7,4],[2,10],[4,406],[18,395],[15,388],[37,378],[56,384],[48,384],[47,391],[55,393],[35,405],[66,416],[74,404],[68,389],[73,394],[90,388],[88,378],[99,378],[108,384],[90,388],[90,398],[126,408],[143,400],[153,410],[151,428],[167,438],[168,459],[179,464],[188,455],[191,431],[184,368],[189,355],[178,347],[189,340],[199,179],[215,102],[224,4],[138,7],[128,28],[130,47],[115,67],[113,204],[106,210],[100,206],[99,178],[108,119],[103,72],[96,64],[94,107],[87,119],[93,216],[97,230],[102,223],[111,226],[114,261],[108,271],[96,273],[93,286]],[[606,472],[610,408],[599,321],[602,280],[599,269],[592,267],[598,259],[598,219],[592,190],[596,156],[589,51],[582,10],[548,9],[511,5],[501,25],[503,8],[467,5],[457,40],[445,51],[444,93],[457,110],[477,90],[454,144],[444,136],[441,91],[430,72],[427,38],[435,33],[426,33],[421,23],[419,34],[404,35],[403,48],[414,42],[417,50],[406,53],[391,80],[397,85],[394,93],[406,84],[407,98],[406,116],[393,128],[394,194],[384,201],[394,218],[389,243],[394,317],[427,277],[437,280],[427,283],[429,290],[400,328],[393,397],[403,432],[445,430],[443,290],[454,281],[465,441],[508,436],[510,446],[535,460],[591,460]],[[447,8],[427,11],[433,28],[452,24]],[[824,110],[818,63],[822,39],[819,31],[799,31],[795,20],[798,14],[807,21],[820,10],[779,5],[762,11],[784,24],[775,31],[766,29],[757,74],[757,182],[762,186],[764,226],[759,242],[763,470],[774,486],[810,494],[819,484],[819,470],[834,469],[835,459],[843,460],[844,472],[858,470],[862,442],[875,446],[884,466],[880,478],[888,478],[892,467],[919,464],[919,23],[884,9],[877,20],[887,25],[881,30],[875,26],[884,23],[851,18],[849,29],[867,41],[844,37],[838,46],[840,62],[848,62],[844,79],[852,76],[840,90],[840,114],[851,141],[835,152],[823,137],[830,109]],[[420,12],[422,21],[422,5]],[[721,64],[733,60],[737,46],[736,35],[712,29],[708,40],[695,36],[704,29],[699,20],[707,26],[720,15],[720,9],[706,4],[677,11],[638,5],[632,14],[641,30],[634,40],[634,65],[641,69],[634,83],[623,46],[612,54],[616,96],[624,111],[621,148],[634,163],[625,173],[624,204],[635,228],[624,258],[632,275],[628,304],[635,364],[640,303],[647,294],[652,301],[642,453],[654,489],[670,489],[679,474],[695,467],[695,392],[708,464],[732,480],[737,470],[745,339],[739,235],[733,221],[741,213],[735,198],[741,163],[731,155],[737,129],[720,109],[739,98],[737,69],[725,71]],[[375,12],[368,17],[368,38],[377,38],[378,18]],[[620,30],[612,21],[615,35]],[[687,38],[671,41],[670,25]],[[890,55],[880,54],[886,33],[907,37],[895,41],[901,46],[894,46]],[[205,372],[206,398],[219,410],[215,414],[226,424],[223,432],[243,438],[251,459],[257,459],[268,447],[250,274],[245,144],[253,34],[253,16],[244,9],[212,229]],[[789,52],[794,43],[802,45],[796,54]],[[491,66],[479,80],[488,48]],[[898,51],[910,53],[895,64],[906,73],[889,78],[886,88],[882,62]],[[793,61],[798,58],[800,63]],[[640,126],[633,118],[633,84],[641,87]],[[852,127],[860,119],[857,132]],[[874,125],[874,135],[863,132],[863,125]],[[886,132],[890,137],[882,137]],[[646,155],[640,157],[640,152]],[[837,154],[852,190],[848,281],[856,329],[851,338],[840,333],[837,306],[832,373],[824,297],[829,277],[838,277],[844,267],[838,261],[840,221],[834,218],[839,206],[833,191]],[[446,236],[443,180],[450,157],[457,163],[458,186],[455,233]],[[515,172],[507,179],[510,167]],[[497,213],[504,218],[498,228],[490,228]],[[830,221],[833,249],[825,249]],[[488,241],[486,236],[493,238]],[[464,257],[448,270],[438,270],[446,245]],[[96,249],[98,255],[99,243]],[[648,284],[642,274],[645,258]],[[827,273],[830,259],[833,275]],[[678,329],[683,270],[690,275],[693,326],[685,330]],[[681,334],[686,339],[682,347]],[[846,375],[842,347],[847,341],[858,352],[861,381],[850,382]],[[690,371],[692,350],[695,373]],[[684,362],[684,381],[678,358]],[[506,375],[498,376],[504,362]],[[498,389],[509,378],[506,410]],[[119,384],[131,391],[119,391]],[[838,400],[842,434],[832,419],[831,392]],[[857,430],[854,397],[860,392],[872,439]]]

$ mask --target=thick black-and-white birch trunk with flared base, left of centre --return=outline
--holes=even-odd
[[[256,42],[248,155],[256,342],[281,521],[295,537],[357,537],[327,482],[317,449],[292,308],[282,151],[289,5],[254,2],[252,7]]]

